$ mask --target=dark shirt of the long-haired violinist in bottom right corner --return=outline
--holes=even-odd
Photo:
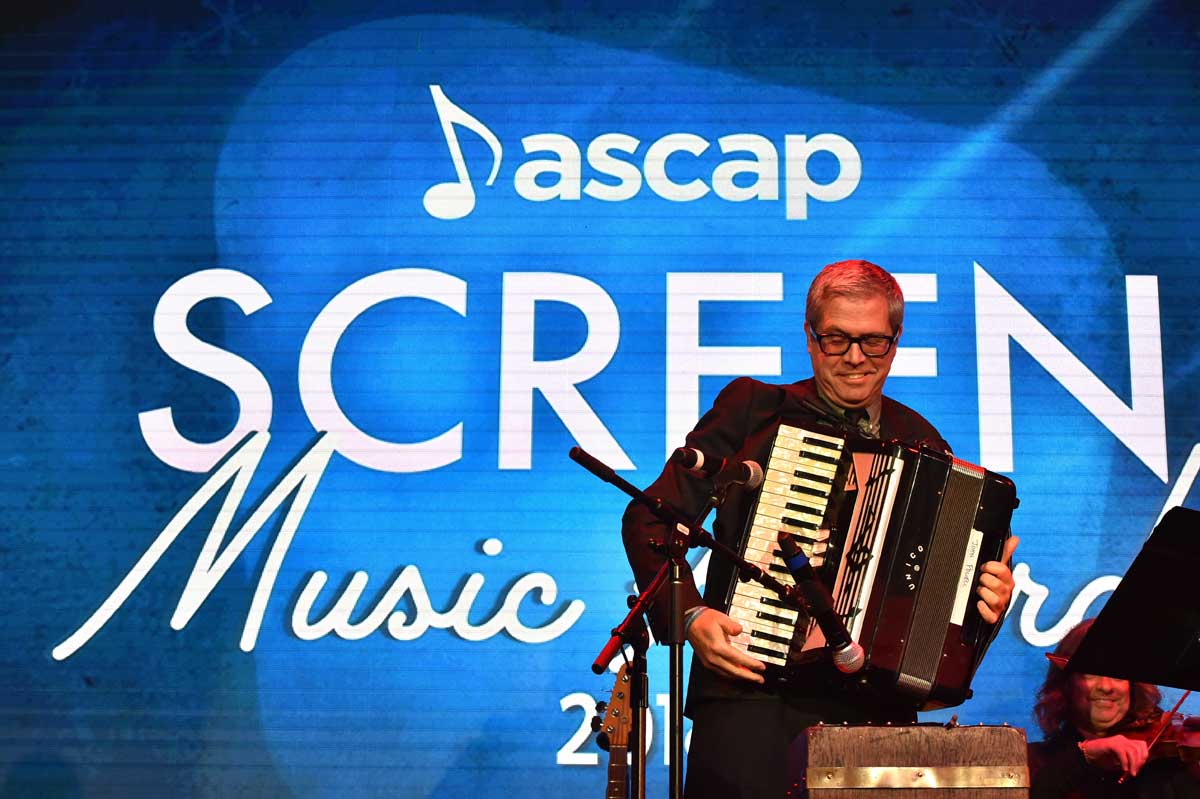
[[[1200,799],[1200,781],[1178,758],[1147,761],[1117,785],[1120,774],[1084,759],[1080,740],[1072,731],[1030,744],[1030,799]]]

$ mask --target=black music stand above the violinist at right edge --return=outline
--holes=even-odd
[[[1064,668],[1200,690],[1200,511],[1172,507]]]

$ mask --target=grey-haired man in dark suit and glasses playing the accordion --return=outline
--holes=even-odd
[[[805,316],[812,378],[791,385],[738,378],[720,392],[713,408],[688,434],[688,446],[734,462],[763,464],[780,416],[800,423],[816,421],[811,410],[815,404],[847,420],[857,415],[853,423],[869,434],[949,450],[932,425],[883,396],[904,326],[904,296],[892,275],[864,260],[830,264],[809,289]],[[710,491],[708,480],[673,463],[647,489],[692,515],[703,507]],[[730,492],[714,524],[722,542],[737,546],[752,503],[754,492]],[[634,572],[644,585],[661,563],[647,542],[662,540],[664,525],[649,511],[631,504],[623,533]],[[1006,563],[1015,546],[1013,537],[1004,551]],[[701,599],[690,575],[684,589],[686,638],[695,654],[688,692],[688,715],[694,722],[685,787],[689,799],[784,795],[788,746],[805,727],[817,722],[914,720],[910,707],[857,687],[828,662],[812,665],[804,679],[793,680],[787,690],[766,686],[763,663],[730,643],[742,631],[740,625],[715,609],[733,579],[731,564],[714,557],[706,597]],[[1007,565],[992,561],[983,567],[978,593],[979,611],[986,621],[1000,619],[1012,590],[1013,576]],[[652,613],[660,638],[666,612],[662,600]]]

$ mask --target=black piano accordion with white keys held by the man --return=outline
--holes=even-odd
[[[976,585],[1003,553],[1013,482],[941,450],[808,427],[779,425],[742,557],[792,583],[779,535],[793,536],[863,648],[857,677],[914,708],[961,704],[990,642]],[[769,678],[828,657],[816,623],[758,583],[734,582],[726,612],[743,627],[733,645]]]

